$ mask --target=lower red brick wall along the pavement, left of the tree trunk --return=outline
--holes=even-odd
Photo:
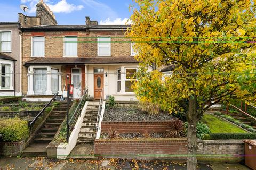
[[[106,158],[146,159],[162,157],[163,159],[186,159],[187,138],[96,139],[94,142],[94,154]]]

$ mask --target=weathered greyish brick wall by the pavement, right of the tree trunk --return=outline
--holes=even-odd
[[[197,159],[205,162],[241,162],[244,160],[242,140],[198,140]]]

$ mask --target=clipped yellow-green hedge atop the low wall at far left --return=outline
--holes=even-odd
[[[29,136],[28,122],[19,118],[0,119],[0,133],[3,141],[21,141]]]

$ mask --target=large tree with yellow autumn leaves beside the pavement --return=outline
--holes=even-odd
[[[188,118],[188,169],[196,169],[196,123],[230,98],[255,102],[255,1],[135,0],[127,37],[141,61],[134,90]],[[162,79],[152,64],[174,64]]]

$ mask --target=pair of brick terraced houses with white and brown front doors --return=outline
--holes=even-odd
[[[89,17],[85,23],[20,28],[22,92],[27,100],[47,101],[57,92],[65,97],[67,84],[74,84],[74,98],[89,89],[94,99],[100,99],[103,90],[104,99],[113,95],[116,100],[135,100],[130,80],[138,61],[132,43],[124,38],[127,25],[99,25]]]

